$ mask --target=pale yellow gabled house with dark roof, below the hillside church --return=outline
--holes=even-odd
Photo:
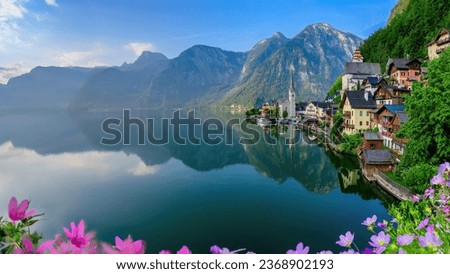
[[[371,93],[345,91],[340,107],[343,110],[343,127],[345,134],[355,134],[370,129],[370,111],[377,108]]]

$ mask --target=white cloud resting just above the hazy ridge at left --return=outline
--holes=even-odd
[[[98,67],[107,66],[108,64],[102,61],[105,50],[101,47],[96,47],[86,51],[68,51],[63,52],[55,57],[55,61],[59,66],[81,66],[81,67]]]

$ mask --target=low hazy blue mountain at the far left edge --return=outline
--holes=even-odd
[[[67,108],[83,82],[95,70],[36,67],[0,86],[0,109]]]

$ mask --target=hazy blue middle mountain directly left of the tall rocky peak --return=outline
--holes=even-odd
[[[196,100],[212,102],[238,81],[245,59],[245,53],[193,46],[171,60],[152,81],[143,103],[179,106]]]

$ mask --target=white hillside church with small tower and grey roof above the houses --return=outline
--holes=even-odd
[[[345,65],[342,76],[342,91],[359,90],[367,77],[381,75],[381,67],[378,63],[364,63],[364,57],[358,49],[353,54],[351,62]]]

